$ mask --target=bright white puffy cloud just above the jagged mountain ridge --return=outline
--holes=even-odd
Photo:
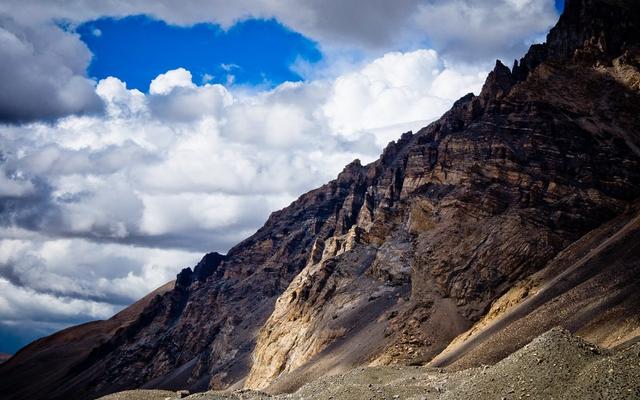
[[[434,50],[388,53],[338,77],[323,111],[331,131],[346,136],[432,120],[450,107],[452,99],[478,92],[484,75],[446,68]]]

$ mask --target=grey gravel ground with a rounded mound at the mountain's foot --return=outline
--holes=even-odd
[[[101,400],[165,400],[165,391],[129,391]],[[206,392],[187,399],[638,399],[640,342],[605,350],[554,328],[492,366],[449,372],[421,366],[357,368],[293,394]]]

